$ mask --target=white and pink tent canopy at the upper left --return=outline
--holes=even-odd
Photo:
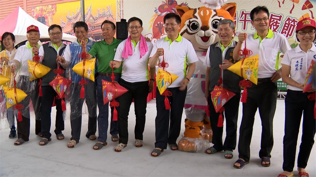
[[[26,41],[26,29],[35,25],[40,30],[40,39],[49,39],[48,26],[35,20],[27,14],[21,7],[17,7],[11,14],[0,21],[0,38],[4,32],[12,32],[15,35],[15,45]],[[74,42],[76,37],[63,33],[63,40]]]

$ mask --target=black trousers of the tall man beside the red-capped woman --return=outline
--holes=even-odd
[[[273,117],[276,110],[276,83],[272,83],[270,78],[258,79],[258,85],[252,83],[247,91],[247,102],[242,104],[243,115],[238,143],[239,158],[245,161],[250,159],[250,142],[257,108],[259,108],[262,125],[259,157],[270,158],[273,147]]]

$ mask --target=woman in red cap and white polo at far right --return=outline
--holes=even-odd
[[[303,133],[297,158],[299,176],[308,177],[305,171],[315,136],[314,105],[303,93],[307,70],[316,58],[315,21],[305,18],[297,23],[296,38],[300,42],[295,49],[288,50],[282,60],[282,80],[287,83],[288,93],[285,98],[285,128],[283,138],[283,170],[281,177],[291,177],[295,163],[295,151],[303,114]],[[290,75],[290,77],[289,77]]]

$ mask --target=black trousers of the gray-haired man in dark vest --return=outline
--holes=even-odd
[[[210,93],[210,92],[209,92]],[[220,113],[216,113],[215,108],[212,104],[211,94],[209,94],[210,103],[210,122],[213,130],[212,143],[213,147],[217,151],[233,151],[236,148],[237,139],[237,120],[238,120],[238,110],[240,102],[240,93],[235,93],[227,103],[225,103],[225,111],[223,113],[223,118],[225,114],[226,122],[226,138],[223,145],[223,127],[217,127],[218,117]]]

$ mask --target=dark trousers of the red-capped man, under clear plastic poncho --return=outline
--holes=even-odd
[[[18,138],[22,138],[25,141],[28,141],[30,136],[30,100],[32,100],[32,105],[35,112],[35,134],[39,134],[41,132],[38,82],[39,79],[30,81],[28,76],[20,76],[19,82],[17,83],[17,88],[20,88],[27,94],[27,97],[19,103],[24,106],[24,108],[21,110],[22,121],[17,121]]]

